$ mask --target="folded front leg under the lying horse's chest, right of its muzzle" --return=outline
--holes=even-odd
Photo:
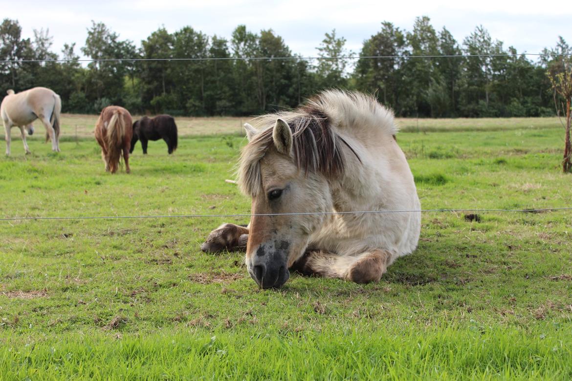
[[[379,282],[391,254],[387,250],[370,250],[356,255],[338,255],[327,251],[308,251],[297,260],[291,270],[302,275],[351,280],[355,283]]]

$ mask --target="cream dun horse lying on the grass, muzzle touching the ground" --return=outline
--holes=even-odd
[[[420,203],[390,110],[361,93],[328,90],[257,122],[260,130],[245,125],[238,170],[252,198],[250,223],[221,225],[203,251],[246,246],[249,274],[269,288],[282,286],[289,269],[377,282],[415,250]]]

